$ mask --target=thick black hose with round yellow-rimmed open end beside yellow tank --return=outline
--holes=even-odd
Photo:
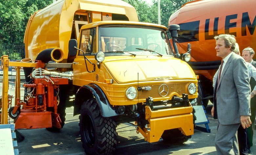
[[[63,50],[61,48],[48,48],[41,51],[35,60],[41,60],[43,63],[49,61],[61,62],[63,60]]]

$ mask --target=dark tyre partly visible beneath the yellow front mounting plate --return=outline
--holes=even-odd
[[[168,144],[182,144],[188,141],[190,136],[183,135],[179,129],[165,130],[162,134],[162,139]]]

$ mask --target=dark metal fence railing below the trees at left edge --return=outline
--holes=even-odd
[[[8,55],[10,60],[21,60],[25,58],[24,44],[0,44],[0,56]]]

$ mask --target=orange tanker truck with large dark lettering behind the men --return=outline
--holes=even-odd
[[[212,79],[221,64],[221,58],[216,56],[214,36],[232,34],[240,50],[248,46],[256,50],[255,7],[255,0],[195,0],[170,16],[168,25],[180,25],[179,51],[185,53],[187,44],[191,44],[189,65],[199,75],[198,102],[204,106],[212,100]]]

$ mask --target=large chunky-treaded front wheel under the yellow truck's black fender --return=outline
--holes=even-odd
[[[87,155],[113,154],[117,145],[116,122],[102,117],[95,99],[83,103],[79,116],[80,135]]]

